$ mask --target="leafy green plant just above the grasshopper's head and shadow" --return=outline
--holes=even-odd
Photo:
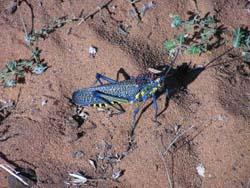
[[[221,44],[222,27],[217,26],[217,21],[209,14],[201,17],[192,13],[188,20],[182,20],[178,15],[170,16],[171,27],[181,30],[174,39],[164,42],[168,54],[173,57],[178,52],[191,55],[201,54]]]

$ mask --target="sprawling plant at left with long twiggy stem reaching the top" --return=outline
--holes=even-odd
[[[64,16],[61,18],[55,18],[40,30],[32,29],[32,31],[29,33],[27,32],[24,21],[21,17],[25,31],[24,41],[31,50],[32,55],[29,59],[19,59],[8,62],[6,66],[0,70],[0,82],[3,82],[5,87],[14,87],[18,82],[25,80],[25,73],[27,72],[32,74],[42,74],[48,68],[48,66],[40,59],[41,50],[39,50],[37,47],[34,47],[34,43],[41,38],[46,39],[49,34],[56,31],[56,29],[63,27],[67,23],[79,22],[78,25],[80,25],[82,22],[92,18],[99,11],[106,8],[111,3],[111,1],[112,0],[109,0],[106,3],[97,6],[86,16],[80,15],[79,17],[72,18]]]

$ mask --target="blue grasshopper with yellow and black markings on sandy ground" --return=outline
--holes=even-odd
[[[170,67],[169,67],[170,68]],[[125,112],[122,104],[136,104],[133,112],[132,127],[136,124],[136,115],[140,111],[141,104],[149,98],[153,100],[155,109],[154,121],[157,122],[158,105],[156,92],[164,88],[166,71],[150,69],[154,74],[142,74],[137,77],[129,77],[127,80],[116,81],[102,74],[96,74],[96,81],[100,85],[83,88],[72,94],[72,102],[80,107],[93,106],[97,108],[113,107],[117,114]],[[168,70],[169,71],[169,70]],[[118,71],[119,73],[119,71]],[[156,74],[161,74],[156,77]],[[103,83],[106,81],[107,83]],[[166,89],[166,94],[167,94]]]

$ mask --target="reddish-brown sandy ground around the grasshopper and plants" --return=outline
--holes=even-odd
[[[33,7],[34,28],[39,29],[55,17],[79,16],[81,11],[87,15],[104,1],[27,2]],[[136,7],[147,2],[141,0]],[[187,11],[198,8],[202,15],[216,15],[229,30],[250,27],[244,0],[201,0],[197,6],[193,0],[154,2],[156,6],[140,22],[129,15],[132,6],[128,1],[113,0],[108,9],[81,25],[72,23],[56,30],[37,43],[50,68],[39,76],[27,74],[25,84],[15,88],[0,88],[1,100],[16,102],[10,115],[0,122],[0,158],[3,163],[34,170],[37,181],[33,187],[69,187],[65,184],[68,174],[77,171],[97,179],[83,187],[250,187],[250,71],[242,61],[202,71],[187,85],[186,92],[170,98],[158,117],[158,127],[152,121],[152,105],[144,109],[135,130],[136,145],[120,160],[117,155],[128,147],[132,106],[125,105],[126,113],[112,117],[85,108],[89,117],[81,126],[72,120],[74,107],[68,98],[76,89],[91,86],[96,73],[115,78],[123,68],[136,76],[169,62],[163,41],[174,36],[170,14],[187,18]],[[29,58],[20,15],[30,30],[31,10],[24,1],[9,14],[5,10],[9,5],[8,0],[0,1],[0,68],[9,60]],[[119,32],[120,25],[127,35]],[[95,58],[88,54],[91,45],[98,49]],[[180,56],[177,64],[204,64],[229,45],[210,54]],[[164,96],[158,105],[162,111]],[[191,126],[194,128],[189,129]],[[178,132],[185,130],[166,153]],[[96,169],[89,159],[95,161]],[[204,167],[204,177],[197,173],[198,166]],[[112,173],[119,169],[123,175],[112,180]],[[1,188],[24,187],[15,183],[0,170]]]

